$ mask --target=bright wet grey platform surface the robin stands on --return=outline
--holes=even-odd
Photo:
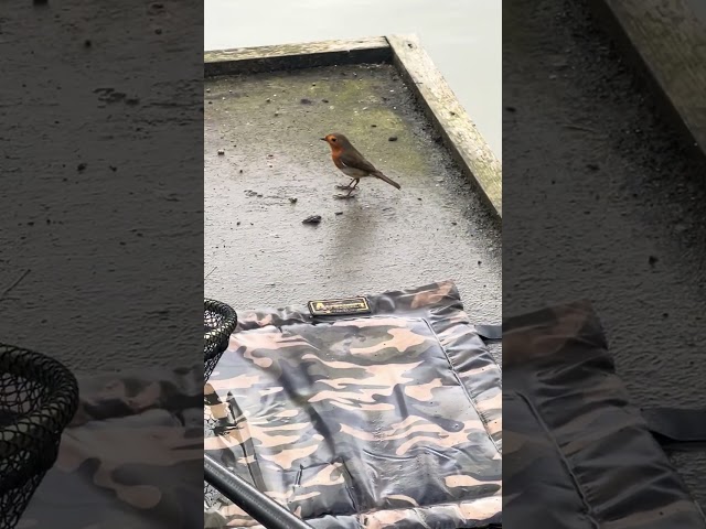
[[[226,77],[205,90],[206,296],[278,307],[448,278],[472,321],[501,321],[500,227],[393,66]],[[349,179],[319,140],[330,132],[402,191],[363,180],[355,198],[334,198]],[[310,215],[321,224],[303,225]]]

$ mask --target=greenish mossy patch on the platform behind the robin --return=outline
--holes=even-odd
[[[257,127],[261,134],[263,127],[269,128],[268,141],[285,129],[284,149],[298,150],[321,136],[342,132],[391,176],[438,174],[413,134],[410,95],[393,74],[389,66],[371,65],[207,80],[206,114],[224,130]],[[315,144],[319,151],[323,147]]]

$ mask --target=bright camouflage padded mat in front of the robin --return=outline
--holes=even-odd
[[[317,529],[501,522],[501,370],[454,284],[372,314],[238,314],[205,389],[205,450]],[[223,498],[207,528],[260,527]]]

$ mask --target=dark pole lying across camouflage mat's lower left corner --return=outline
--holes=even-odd
[[[269,496],[204,454],[206,482],[267,529],[312,529]]]

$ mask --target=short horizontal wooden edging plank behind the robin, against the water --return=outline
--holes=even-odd
[[[313,68],[334,64],[388,63],[385,37],[323,41],[306,44],[242,47],[204,53],[204,75],[256,74],[278,69]]]

